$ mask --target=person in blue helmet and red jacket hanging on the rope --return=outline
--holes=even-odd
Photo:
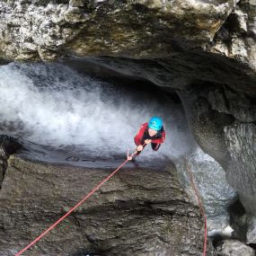
[[[153,117],[148,123],[144,123],[138,130],[134,142],[137,145],[135,152],[128,155],[128,160],[134,160],[133,157],[139,155],[146,145],[151,143],[154,151],[157,151],[165,140],[165,131],[163,121],[159,117]]]

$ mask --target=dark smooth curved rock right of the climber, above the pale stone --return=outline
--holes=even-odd
[[[225,146],[225,125],[233,123],[234,118],[223,112],[212,110],[207,100],[198,90],[179,92],[190,129],[204,152],[212,156],[224,169],[230,161]]]

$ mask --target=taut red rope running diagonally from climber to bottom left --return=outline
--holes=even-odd
[[[132,155],[133,155],[133,154],[132,154]],[[22,252],[27,251],[33,244],[35,244],[35,243],[37,243],[38,241],[40,241],[40,239],[41,239],[45,234],[48,234],[49,231],[52,230],[52,229],[53,229],[56,225],[58,225],[61,221],[63,221],[63,220],[66,218],[66,216],[69,216],[77,207],[79,207],[80,205],[82,205],[86,199],[89,199],[89,198],[93,195],[93,193],[94,193],[96,190],[99,190],[100,187],[102,187],[102,185],[103,185],[106,181],[110,180],[110,178],[111,178],[116,172],[118,172],[119,169],[120,169],[125,163],[127,163],[127,162],[128,162],[128,160],[126,160],[124,163],[122,163],[122,164],[119,166],[119,168],[118,168],[117,170],[115,170],[114,172],[112,172],[106,179],[104,179],[104,180],[103,180],[97,187],[95,187],[86,197],[84,197],[84,199],[82,199],[79,203],[77,203],[77,204],[75,205],[75,207],[72,207],[72,208],[66,213],[66,215],[64,215],[64,216],[62,216],[61,218],[59,218],[56,223],[54,223],[53,225],[51,225],[47,230],[45,230],[42,234],[40,234],[40,236],[38,236],[34,241],[32,241],[29,245],[27,245],[24,249],[22,249],[21,252],[18,252],[17,254],[15,254],[15,256],[21,255]]]

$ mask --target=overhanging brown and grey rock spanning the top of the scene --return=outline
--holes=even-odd
[[[21,0],[2,1],[0,7],[5,59],[110,56],[144,59],[141,65],[150,59],[154,75],[159,68],[172,74],[171,80],[160,79],[168,85],[182,76],[229,84],[243,93],[255,89],[252,0]]]

